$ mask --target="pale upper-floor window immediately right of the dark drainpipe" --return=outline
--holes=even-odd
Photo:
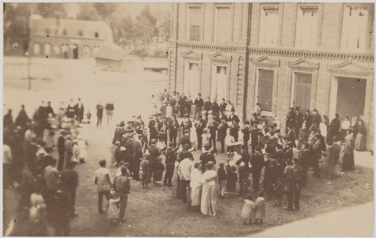
[[[263,8],[260,14],[259,45],[276,46],[278,37],[278,8]]]

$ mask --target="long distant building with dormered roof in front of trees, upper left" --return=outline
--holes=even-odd
[[[114,44],[112,30],[105,21],[30,17],[32,56],[80,59],[94,56]]]

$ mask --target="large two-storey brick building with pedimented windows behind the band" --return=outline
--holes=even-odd
[[[173,3],[170,91],[255,104],[284,128],[289,107],[361,116],[373,148],[373,3]]]

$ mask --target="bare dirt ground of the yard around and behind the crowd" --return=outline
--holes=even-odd
[[[14,67],[14,65],[9,66],[8,69],[4,67],[5,76],[12,75],[9,70],[14,70]],[[128,119],[138,111],[142,111],[142,114],[146,115],[149,95],[152,92],[159,92],[158,90],[162,90],[166,84],[160,82],[151,85],[144,81],[135,84],[127,81],[127,78],[119,82],[115,78],[108,78],[105,74],[102,74],[100,78],[91,78],[86,75],[90,72],[90,67],[87,69],[76,67],[71,71],[65,66],[61,68],[62,66],[57,64],[52,64],[50,67],[58,69],[52,71],[60,72],[60,76],[46,81],[46,87],[41,79],[36,80],[33,85],[38,87],[32,91],[25,90],[25,81],[22,79],[5,77],[5,103],[7,107],[15,108],[14,118],[18,113],[18,105],[26,103],[27,109],[31,111],[31,108],[34,105],[35,108],[40,100],[47,100],[53,94],[55,96],[50,101],[55,106],[61,99],[68,100],[70,96],[80,95],[85,100],[83,101],[85,107],[87,105],[92,108],[94,121],[94,106],[98,97],[103,100],[111,99],[115,104],[115,117],[110,125],[106,125],[106,120],[103,117],[103,127],[96,128],[92,124],[91,128],[85,129],[85,135],[88,138],[88,157],[85,164],[76,166],[76,170],[79,172],[79,187],[76,195],[78,217],[71,220],[70,236],[246,236],[268,227],[373,201],[372,169],[356,166],[352,172],[338,172],[340,176],[337,180],[312,178],[312,171],[310,171],[307,186],[301,193],[300,211],[289,212],[283,207],[273,207],[274,201],[267,200],[264,224],[244,226],[240,216],[243,207],[243,198],[241,197],[218,200],[218,217],[207,217],[187,211],[186,204],[175,199],[176,187],[157,188],[151,185],[152,189],[142,189],[141,182],[131,180],[126,222],[110,227],[106,214],[99,215],[97,211],[96,186],[92,182],[94,171],[99,168],[99,160],[106,159],[112,178],[114,177],[117,168],[113,165],[110,144],[115,124],[120,119]],[[69,67],[73,67],[73,65]],[[143,78],[143,76],[135,77]],[[79,78],[82,80],[78,81]],[[67,82],[63,83],[64,80]],[[59,86],[55,87],[54,82]],[[103,103],[105,102],[103,101]],[[119,106],[117,107],[117,105]],[[29,116],[31,116],[30,113]],[[219,143],[217,144],[219,145]],[[194,152],[194,158],[195,160],[199,159],[198,151]],[[227,157],[219,155],[216,160],[217,163],[224,162]],[[176,184],[176,171],[173,184]],[[284,197],[283,205],[287,206],[286,197]],[[12,235],[23,235],[24,223],[20,221],[15,224],[15,233]]]

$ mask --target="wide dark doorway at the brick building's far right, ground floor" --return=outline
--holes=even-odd
[[[364,114],[366,84],[366,79],[338,77],[336,111],[340,114],[340,121],[345,116],[351,120],[353,116],[359,119],[359,115]]]

